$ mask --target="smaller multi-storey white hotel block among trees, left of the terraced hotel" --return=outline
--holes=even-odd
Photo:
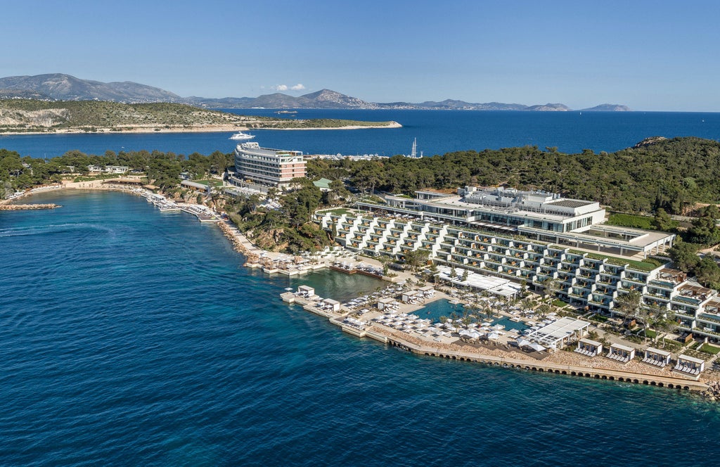
[[[305,177],[302,151],[261,148],[258,143],[235,147],[235,178],[258,184],[286,187],[294,178]]]

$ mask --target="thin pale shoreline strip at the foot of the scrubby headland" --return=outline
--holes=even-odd
[[[346,125],[341,127],[323,127],[323,128],[257,128],[243,125],[208,125],[201,127],[159,127],[148,126],[147,128],[98,128],[96,131],[86,131],[81,128],[68,128],[52,131],[7,131],[0,133],[0,138],[4,135],[77,135],[77,134],[127,134],[127,133],[231,133],[236,131],[250,130],[363,130],[365,128],[402,128],[400,123],[395,121],[390,125]]]

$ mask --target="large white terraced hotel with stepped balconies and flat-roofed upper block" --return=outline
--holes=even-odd
[[[643,259],[672,246],[671,233],[606,226],[598,203],[498,188],[457,195],[416,192],[362,202],[358,215],[318,213],[336,241],[364,254],[402,257],[422,249],[439,264],[525,282],[554,280],[579,308],[615,313],[616,298],[639,290],[645,306],[671,310],[680,329],[720,339],[720,297],[680,271]]]

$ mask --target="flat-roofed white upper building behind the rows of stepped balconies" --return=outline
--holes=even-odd
[[[675,239],[671,233],[605,226],[599,203],[557,193],[464,187],[456,194],[418,190],[415,198],[390,195],[384,201],[358,207],[626,257],[665,252]]]

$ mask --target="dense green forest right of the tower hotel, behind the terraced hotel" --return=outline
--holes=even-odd
[[[596,200],[611,210],[682,214],[696,203],[720,202],[720,143],[673,138],[614,153],[564,154],[537,146],[459,151],[408,159],[312,160],[314,177],[345,179],[364,192],[413,195],[421,188],[508,184]]]

